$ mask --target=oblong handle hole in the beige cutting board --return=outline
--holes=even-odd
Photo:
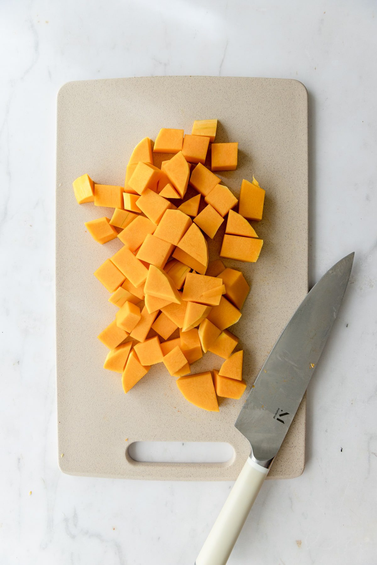
[[[134,441],[126,453],[138,463],[231,463],[235,450],[226,442]]]

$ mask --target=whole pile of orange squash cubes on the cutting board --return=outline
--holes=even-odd
[[[152,364],[163,363],[183,396],[210,411],[219,410],[216,395],[238,399],[246,388],[243,351],[233,353],[239,339],[227,328],[240,319],[249,285],[221,259],[209,263],[205,236],[213,238],[226,219],[220,257],[255,262],[263,241],[248,220],[262,219],[265,198],[253,177],[242,180],[238,201],[215,174],[235,170],[238,152],[237,143],[214,143],[216,127],[217,120],[196,120],[192,134],[163,128],[154,145],[144,138],[124,186],[95,184],[89,175],[73,182],[79,204],[115,208],[111,219],[85,223],[94,240],[118,237],[123,244],[94,273],[119,308],[98,336],[110,350],[104,367],[122,373],[127,393]],[[153,153],[172,157],[158,168]],[[185,199],[188,185],[198,194]],[[191,374],[206,351],[225,359],[220,370]]]

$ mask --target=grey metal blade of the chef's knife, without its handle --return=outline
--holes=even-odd
[[[252,458],[267,466],[285,434],[331,331],[352,269],[354,253],[320,279],[293,314],[263,365],[236,420]]]

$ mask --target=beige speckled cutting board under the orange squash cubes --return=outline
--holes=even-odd
[[[111,216],[109,208],[77,205],[72,181],[122,185],[125,166],[141,138],[161,127],[184,128],[218,118],[216,141],[239,142],[236,171],[220,173],[239,194],[242,178],[266,189],[263,220],[253,223],[264,245],[258,262],[224,260],[251,285],[233,331],[244,349],[248,389],[224,399],[219,413],[181,396],[162,364],[123,393],[121,376],[102,368],[107,354],[97,335],[116,307],[93,272],[120,247],[98,245],[84,221]],[[59,464],[65,473],[125,479],[234,480],[250,453],[234,422],[250,386],[281,330],[307,292],[307,93],[295,80],[147,77],[69,82],[58,95],[57,132],[57,395]],[[156,159],[161,162],[161,155]],[[218,256],[224,227],[210,241]],[[232,330],[232,328],[230,328]],[[219,368],[206,354],[193,372]],[[128,441],[125,441],[128,438]],[[228,463],[140,463],[127,453],[134,441],[220,441],[234,447]],[[305,398],[269,478],[304,469]],[[61,457],[60,454],[64,454]]]

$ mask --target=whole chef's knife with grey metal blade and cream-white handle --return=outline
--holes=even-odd
[[[330,334],[348,284],[354,253],[336,263],[306,295],[263,365],[236,420],[251,453],[195,565],[225,565]]]

